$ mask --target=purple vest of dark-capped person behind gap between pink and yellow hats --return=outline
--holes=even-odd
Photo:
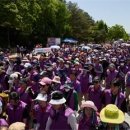
[[[89,100],[94,102],[98,111],[100,111],[102,108],[102,93],[103,93],[103,90],[101,86],[98,90],[95,90],[94,86],[90,86],[88,90]]]

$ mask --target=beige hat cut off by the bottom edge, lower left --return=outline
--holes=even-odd
[[[10,126],[9,126],[9,129],[8,130],[25,130],[25,123],[23,122],[15,122],[15,123],[12,123]]]

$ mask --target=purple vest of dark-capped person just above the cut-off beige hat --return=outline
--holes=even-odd
[[[26,107],[26,103],[20,101],[19,105],[16,109],[12,106],[12,104],[7,104],[7,114],[8,114],[8,121],[9,124],[14,122],[22,122],[23,120],[23,112]]]

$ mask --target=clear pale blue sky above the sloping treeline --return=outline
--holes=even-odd
[[[95,20],[109,27],[119,24],[130,33],[130,0],[66,0],[75,2]]]

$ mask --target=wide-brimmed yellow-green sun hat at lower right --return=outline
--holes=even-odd
[[[105,123],[121,124],[124,120],[124,113],[116,105],[109,104],[100,112],[100,119]]]

